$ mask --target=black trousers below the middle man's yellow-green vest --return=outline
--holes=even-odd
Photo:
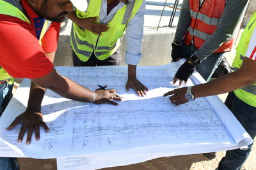
[[[86,62],[81,61],[74,51],[72,52],[72,56],[74,66],[119,66],[122,60],[119,48],[105,60],[98,60],[94,53],[92,53]]]

